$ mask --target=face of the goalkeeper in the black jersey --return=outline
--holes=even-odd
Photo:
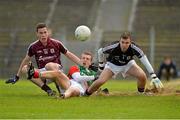
[[[123,52],[126,52],[126,51],[127,51],[127,49],[129,48],[130,44],[131,44],[130,38],[127,38],[127,39],[121,38],[121,40],[120,40],[120,45],[121,45],[121,50],[122,50]]]

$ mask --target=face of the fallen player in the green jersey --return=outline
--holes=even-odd
[[[86,55],[86,54],[81,55],[81,62],[83,63],[83,66],[86,68],[89,68],[89,66],[91,65],[92,63],[91,59],[92,58],[90,55]]]

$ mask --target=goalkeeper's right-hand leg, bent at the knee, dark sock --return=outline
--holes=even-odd
[[[129,68],[126,74],[137,78],[138,91],[144,92],[147,76],[145,72],[136,63]]]

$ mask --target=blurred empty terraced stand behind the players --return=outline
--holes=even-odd
[[[1,78],[16,74],[39,22],[76,55],[93,52],[95,62],[98,48],[128,30],[156,71],[165,56],[180,69],[180,0],[0,0]],[[75,40],[79,25],[91,29],[90,40]],[[67,71],[73,63],[62,55],[62,64]]]

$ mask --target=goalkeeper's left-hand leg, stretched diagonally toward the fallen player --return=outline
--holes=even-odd
[[[97,91],[100,86],[102,86],[106,81],[112,78],[114,73],[108,69],[105,68],[102,73],[100,74],[99,78],[92,83],[92,85],[88,88],[87,93],[91,94]]]

